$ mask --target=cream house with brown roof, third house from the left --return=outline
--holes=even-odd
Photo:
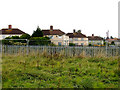
[[[88,45],[88,38],[86,35],[81,32],[76,32],[75,29],[73,30],[73,33],[67,33],[66,35],[69,36],[69,43],[73,43],[78,46]]]

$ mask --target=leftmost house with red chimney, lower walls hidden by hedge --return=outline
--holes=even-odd
[[[8,25],[8,28],[3,28],[0,30],[0,39],[4,39],[6,37],[12,36],[21,36],[22,34],[26,34],[18,28],[12,28],[12,25]]]

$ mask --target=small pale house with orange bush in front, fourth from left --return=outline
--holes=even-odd
[[[92,36],[88,36],[88,42],[89,45],[103,45],[104,43],[104,39],[102,37],[99,36],[94,36],[94,34],[92,34]]]

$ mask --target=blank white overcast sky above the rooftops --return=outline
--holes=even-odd
[[[13,28],[32,34],[41,29],[65,33],[81,30],[86,36],[118,37],[119,0],[0,0],[0,29]]]

